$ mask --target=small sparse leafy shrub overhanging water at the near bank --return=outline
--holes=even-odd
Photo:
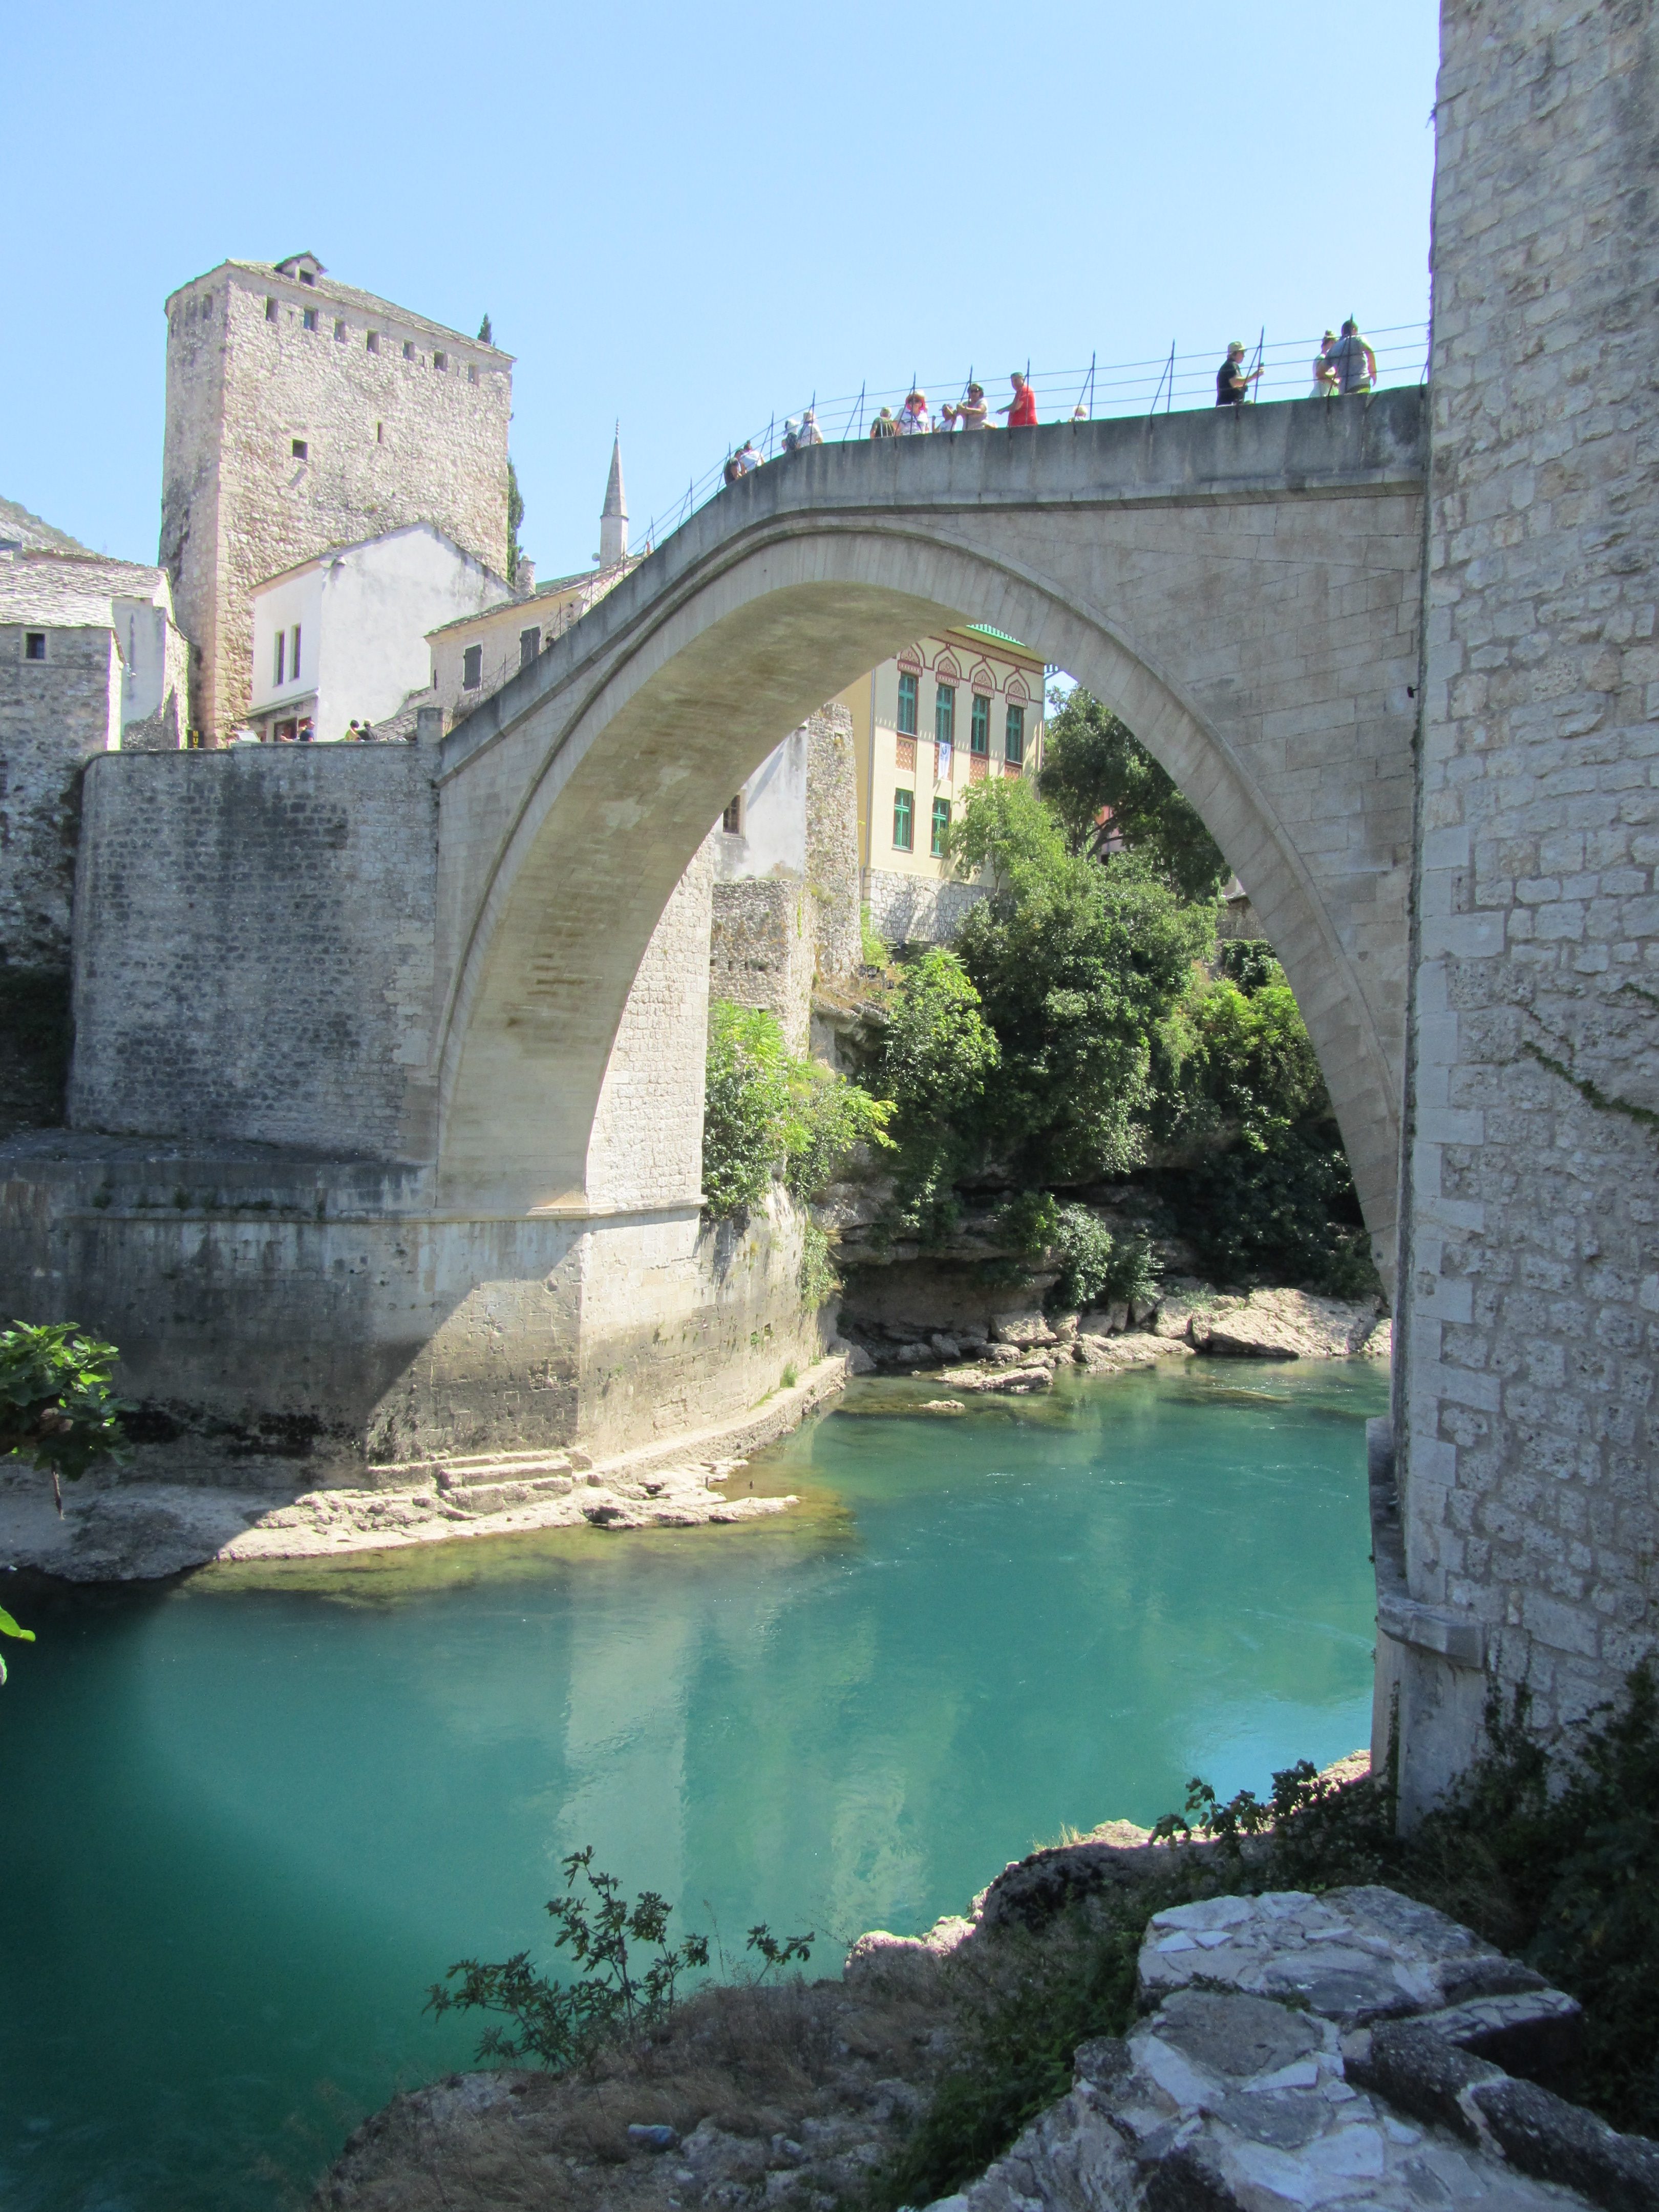
[[[573,1982],[551,1982],[535,1973],[529,1951],[515,1951],[500,1964],[465,1958],[431,1986],[427,2011],[442,2017],[449,2011],[504,2013],[511,2035],[498,2026],[484,2028],[478,2057],[533,2059],[557,2073],[584,2066],[599,2048],[648,2033],[675,2008],[681,1973],[708,1966],[708,1938],[684,1936],[668,1942],[672,1905],[655,1889],[641,1889],[633,1905],[622,1893],[615,1874],[593,1871],[593,1845],[571,1851],[564,1867],[564,1896],[549,1900],[557,1924],[555,1949],[571,1953],[571,1964],[584,1969]],[[577,1876],[586,1896],[577,1891]],[[748,1947],[761,1958],[761,1975],[774,1966],[805,1960],[816,1936],[787,1936],[779,1942],[765,1922],[752,1927]],[[633,1947],[646,1944],[644,1964]],[[460,1989],[447,1989],[460,1982]]]

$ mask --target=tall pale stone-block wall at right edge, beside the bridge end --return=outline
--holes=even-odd
[[[1396,1444],[1407,1798],[1659,1617],[1659,22],[1447,0]],[[1248,880],[1248,878],[1245,878]],[[1254,883],[1250,885],[1254,891]]]

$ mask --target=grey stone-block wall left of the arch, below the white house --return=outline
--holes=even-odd
[[[71,1124],[422,1159],[436,872],[425,748],[102,754]]]

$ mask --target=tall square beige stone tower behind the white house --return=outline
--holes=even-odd
[[[507,575],[513,361],[334,283],[316,254],[223,261],[166,314],[161,566],[212,745],[248,710],[263,577],[407,522]]]

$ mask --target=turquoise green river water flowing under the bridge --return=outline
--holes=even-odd
[[[927,1396],[856,1385],[750,1471],[801,1504],[739,1528],[7,1577],[40,1632],[0,1692],[7,2212],[303,2201],[467,2064],[427,1986],[546,1958],[580,1845],[834,1973],[1062,1825],[1365,1741],[1378,1369]]]

